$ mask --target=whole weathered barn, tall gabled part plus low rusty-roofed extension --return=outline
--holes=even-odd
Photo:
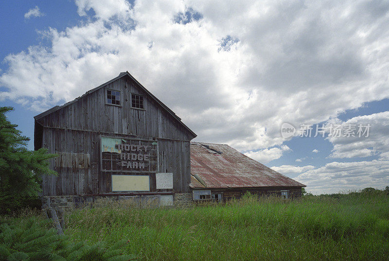
[[[128,71],[35,117],[35,150],[55,157],[44,207],[106,198],[160,205],[228,200],[245,191],[300,196],[304,185],[196,134]]]

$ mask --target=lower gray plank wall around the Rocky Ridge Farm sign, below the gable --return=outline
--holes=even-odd
[[[111,137],[123,135],[110,134]],[[136,138],[126,136],[127,138]],[[138,137],[139,138],[139,137]],[[159,172],[173,173],[173,189],[189,192],[190,144],[182,140],[156,140],[159,144]],[[101,171],[101,134],[45,128],[43,147],[58,154],[50,166],[58,176],[45,176],[44,195],[85,195],[111,192],[111,175]],[[140,173],[144,175],[144,173]],[[155,174],[151,176],[150,191],[157,191]],[[163,191],[163,190],[160,190]]]

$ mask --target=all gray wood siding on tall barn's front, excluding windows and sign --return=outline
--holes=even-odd
[[[106,88],[121,91],[122,106],[106,104]],[[131,108],[131,93],[143,95],[145,110]],[[59,155],[50,163],[58,176],[43,178],[44,195],[111,192],[111,174],[115,173],[101,171],[101,135],[155,138],[159,172],[173,173],[174,192],[190,191],[190,140],[194,136],[129,77],[80,97],[37,119],[35,125],[35,131],[42,132],[41,146]],[[155,174],[149,175],[150,191],[158,192]]]

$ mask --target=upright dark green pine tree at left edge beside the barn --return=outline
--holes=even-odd
[[[13,109],[0,107],[0,214],[17,209],[29,197],[37,197],[41,175],[56,174],[47,161],[55,154],[48,154],[47,149],[27,150],[30,139],[5,116]]]

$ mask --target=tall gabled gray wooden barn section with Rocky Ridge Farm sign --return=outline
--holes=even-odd
[[[35,118],[35,150],[58,157],[43,177],[44,206],[96,197],[191,200],[190,140],[181,119],[128,72]]]

